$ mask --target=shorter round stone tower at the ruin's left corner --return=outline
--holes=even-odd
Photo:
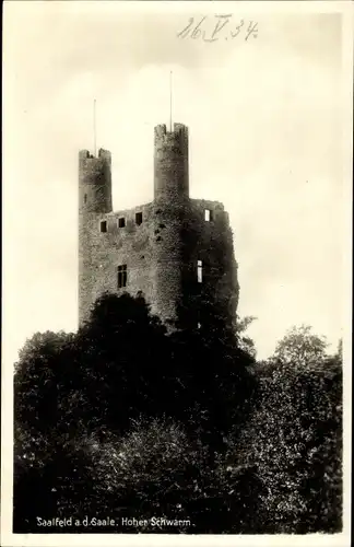
[[[92,291],[92,243],[98,218],[111,211],[111,155],[79,152],[79,323],[88,315]]]

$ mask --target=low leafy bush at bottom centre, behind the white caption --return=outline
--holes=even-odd
[[[99,503],[94,505],[91,497],[91,512],[97,507],[118,522],[125,516],[140,520],[141,515],[148,521],[156,515],[181,521],[176,527],[152,528],[146,524],[139,532],[220,534],[251,529],[252,500],[248,498],[258,486],[251,469],[240,466],[231,472],[222,454],[211,466],[208,446],[170,418],[133,420],[123,437],[111,435],[104,442],[92,437],[87,450],[92,454],[91,481]],[[87,509],[82,511],[85,514]]]

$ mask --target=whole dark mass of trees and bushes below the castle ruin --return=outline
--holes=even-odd
[[[37,517],[189,520],[163,533],[339,532],[342,357],[307,327],[257,363],[208,314],[168,334],[105,294],[76,334],[27,340],[14,374],[15,533]],[[137,532],[116,527],[114,532]]]

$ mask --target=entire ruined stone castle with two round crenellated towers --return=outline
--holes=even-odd
[[[238,303],[237,264],[222,203],[189,197],[188,128],[154,129],[154,199],[113,211],[111,156],[79,153],[79,322],[105,291],[141,291],[164,322],[180,306],[199,323],[203,294]],[[200,305],[199,305],[200,302]]]

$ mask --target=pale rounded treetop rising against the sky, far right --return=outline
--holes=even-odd
[[[312,334],[308,325],[291,328],[278,342],[274,358],[282,363],[296,365],[319,362],[326,357],[326,337]]]

